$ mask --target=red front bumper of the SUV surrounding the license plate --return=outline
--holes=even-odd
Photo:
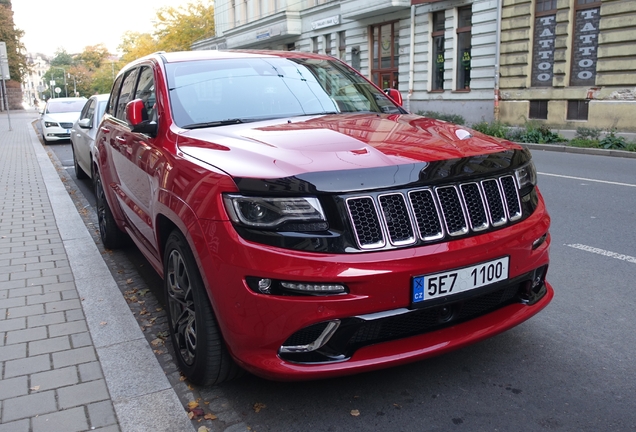
[[[543,309],[554,294],[542,278],[534,287],[536,295],[531,302],[522,295],[534,279],[534,271],[547,270],[549,261],[549,235],[533,247],[550,224],[542,200],[528,219],[499,231],[360,254],[318,254],[264,246],[239,237],[229,222],[201,222],[209,239],[206,250],[198,251],[201,268],[228,349],[242,367],[271,379],[332,377],[438,355],[520,324]],[[449,298],[429,310],[411,308],[414,276],[505,255],[510,257],[505,284],[474,292],[471,298]],[[251,290],[247,276],[340,283],[349,291],[315,297],[267,295]],[[488,296],[497,298],[485,306],[466,306],[483,303]],[[444,308],[452,309],[452,319],[440,318],[448,313]],[[464,313],[468,310],[472,312]],[[311,343],[311,337],[294,339],[299,333],[309,329],[313,330],[310,334],[320,336],[325,323],[336,321],[338,329],[327,335],[328,341],[319,349],[310,350],[308,355],[286,349]]]

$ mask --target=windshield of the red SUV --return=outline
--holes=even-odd
[[[166,70],[174,121],[180,127],[326,113],[402,112],[337,61],[223,59],[167,64]]]

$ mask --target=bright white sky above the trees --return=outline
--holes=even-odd
[[[24,31],[29,53],[53,57],[63,48],[69,54],[103,43],[113,54],[126,31],[152,33],[152,21],[165,6],[179,7],[193,0],[12,0],[13,21]]]

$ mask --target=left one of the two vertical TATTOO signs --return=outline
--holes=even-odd
[[[551,87],[554,76],[556,15],[537,17],[534,22],[532,86]]]

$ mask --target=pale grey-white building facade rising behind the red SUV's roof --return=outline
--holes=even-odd
[[[323,53],[381,88],[397,88],[411,112],[493,119],[495,0],[217,0],[216,36],[193,49]]]

